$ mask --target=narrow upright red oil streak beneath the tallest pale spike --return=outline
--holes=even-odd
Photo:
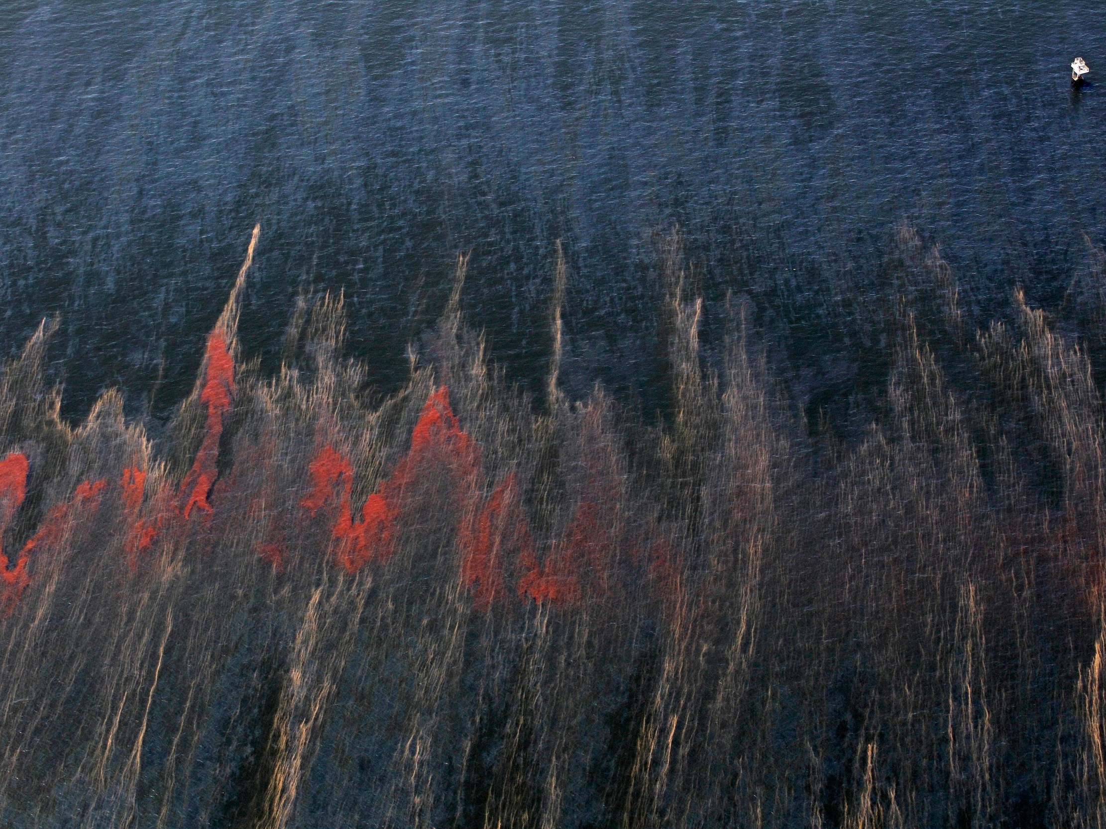
[[[222,437],[223,416],[230,411],[234,396],[234,359],[227,346],[227,339],[219,330],[208,335],[204,388],[200,402],[207,406],[207,421],[204,424],[204,440],[192,468],[180,482],[184,499],[181,514],[187,521],[194,508],[211,512],[208,496],[219,476],[219,439]]]

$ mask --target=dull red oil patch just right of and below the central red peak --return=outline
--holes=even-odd
[[[518,475],[511,472],[492,491],[479,512],[469,511],[458,536],[461,583],[473,592],[478,610],[507,598],[507,554],[534,560],[534,543],[522,511]]]

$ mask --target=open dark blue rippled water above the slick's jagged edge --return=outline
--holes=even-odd
[[[1106,237],[1088,4],[2,6],[0,344],[62,314],[73,414],[112,385],[176,401],[255,221],[242,333],[265,366],[298,293],[344,290],[386,388],[465,250],[470,322],[532,382],[563,239],[565,381],[629,397],[657,377],[674,223],[708,314],[748,296],[828,349],[817,297],[878,291],[898,222],[980,319],[1019,283],[1058,305],[1082,234]],[[1072,90],[1075,55],[1100,87]]]

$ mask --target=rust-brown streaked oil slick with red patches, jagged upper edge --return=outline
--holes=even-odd
[[[917,253],[901,235],[894,261]],[[949,272],[915,264],[960,330]],[[957,339],[994,399],[1029,401],[1003,424],[893,315],[883,419],[820,453],[740,313],[709,365],[702,304],[668,276],[671,422],[571,401],[557,361],[535,402],[456,304],[386,399],[327,298],[316,342],[260,377],[239,281],[164,437],[107,402],[8,427],[0,822],[905,826],[908,804],[1014,825],[1023,784],[998,769],[1031,752],[1034,808],[1092,825],[1106,438],[1086,354],[1022,294],[1016,329]],[[45,398],[32,369],[3,388]]]

